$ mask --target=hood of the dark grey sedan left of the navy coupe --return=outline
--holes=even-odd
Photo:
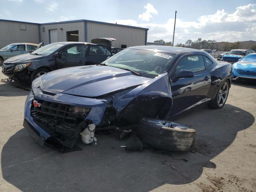
[[[11,57],[4,61],[5,64],[19,64],[19,63],[26,63],[26,62],[33,62],[35,60],[39,60],[44,58],[41,55],[31,55],[31,54],[22,54],[18,56]]]

